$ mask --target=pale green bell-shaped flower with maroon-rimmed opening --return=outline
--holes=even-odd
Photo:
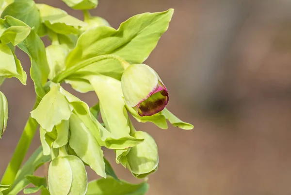
[[[121,78],[125,102],[140,116],[151,116],[162,111],[169,101],[169,94],[161,78],[146,64],[132,64]]]

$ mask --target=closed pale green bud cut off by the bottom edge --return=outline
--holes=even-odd
[[[86,194],[87,173],[78,157],[68,155],[55,158],[49,164],[48,176],[50,195]]]

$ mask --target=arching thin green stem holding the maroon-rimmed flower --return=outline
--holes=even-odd
[[[120,62],[124,69],[126,69],[130,65],[127,61],[125,61],[122,57],[120,57],[118,55],[113,55],[113,54],[99,55],[99,56],[84,60],[84,61],[66,69],[65,71],[61,72],[56,77],[54,77],[52,79],[52,82],[61,83],[65,78],[67,78],[68,76],[70,76],[74,72],[76,72],[76,71],[78,71],[78,70],[80,70],[80,69],[82,69],[90,64],[93,64],[93,63],[96,63],[96,62],[102,61],[102,60],[108,60],[108,59],[112,59],[112,60],[116,60],[116,61]]]

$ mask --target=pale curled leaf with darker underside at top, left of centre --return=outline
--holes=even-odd
[[[87,24],[68,15],[64,10],[51,7],[47,4],[36,4],[40,11],[42,22],[52,31],[59,34],[78,34],[79,27]]]

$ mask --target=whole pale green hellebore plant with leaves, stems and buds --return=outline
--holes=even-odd
[[[181,129],[193,128],[165,108],[168,90],[157,72],[142,64],[168,29],[173,9],[133,16],[115,30],[105,19],[90,15],[97,0],[63,1],[82,10],[84,21],[33,0],[0,0],[0,84],[16,77],[26,85],[27,74],[15,54],[19,48],[30,57],[36,93],[31,116],[2,176],[0,195],[22,190],[41,195],[144,195],[146,180],[120,180],[101,147],[113,149],[116,163],[134,177],[146,178],[158,168],[157,144],[148,133],[137,131],[129,116],[162,129],[168,128],[167,121]],[[44,36],[51,41],[46,48]],[[66,91],[63,82],[82,93],[95,91],[99,102],[89,107]],[[2,139],[7,119],[7,100],[0,92]],[[41,146],[21,167],[38,126]],[[44,163],[49,163],[48,178],[34,176]],[[103,178],[88,183],[85,166]]]

